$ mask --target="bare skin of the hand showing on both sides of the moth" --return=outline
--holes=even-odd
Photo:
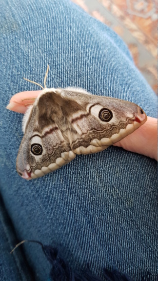
[[[15,112],[25,113],[27,106],[35,101],[40,92],[20,92],[11,98],[6,108]],[[145,124],[123,140],[115,143],[114,146],[122,147],[128,151],[139,153],[158,161],[158,120],[148,117]]]

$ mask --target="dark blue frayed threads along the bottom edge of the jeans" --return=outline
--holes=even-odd
[[[47,260],[52,265],[52,269],[50,271],[51,281],[103,281],[102,279],[94,276],[91,273],[89,264],[87,264],[87,270],[83,272],[82,275],[78,274],[77,272],[74,272],[71,267],[59,257],[59,252],[57,248],[53,248],[50,245],[43,245],[40,241],[23,240],[18,243],[10,253],[12,254],[16,248],[18,248],[25,242],[33,242],[40,244]],[[103,274],[107,281],[133,281],[127,274],[120,273],[119,270],[116,268],[112,268],[111,270],[104,269]],[[147,274],[143,276],[140,281],[151,280],[152,275],[150,272],[147,272]]]

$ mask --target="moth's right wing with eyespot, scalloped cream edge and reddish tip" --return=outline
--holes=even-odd
[[[72,127],[78,132],[70,143],[76,154],[102,151],[147,120],[135,103],[94,95],[84,95],[84,99],[81,112],[74,113],[71,118]]]

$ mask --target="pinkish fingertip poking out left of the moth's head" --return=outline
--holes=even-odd
[[[41,91],[20,92],[11,98],[6,108],[15,112],[25,113],[29,104],[34,103],[40,92]]]

